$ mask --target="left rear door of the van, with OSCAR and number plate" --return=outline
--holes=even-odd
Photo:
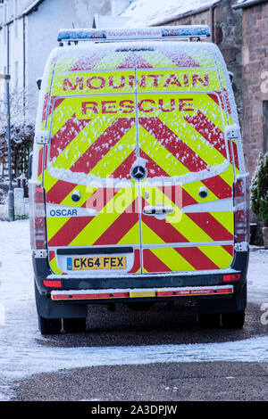
[[[90,53],[68,69],[66,57],[58,60],[46,111],[50,265],[55,273],[138,273],[138,182],[130,178],[138,158],[135,74],[126,68],[112,77],[109,60],[93,70],[97,53]]]

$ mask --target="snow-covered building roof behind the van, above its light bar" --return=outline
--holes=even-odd
[[[220,0],[134,0],[121,17],[128,17],[125,27],[160,25],[185,14],[201,12]]]

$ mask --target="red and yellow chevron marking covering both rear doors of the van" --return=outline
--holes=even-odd
[[[114,53],[106,47],[83,53],[70,54],[67,62],[60,56],[54,64],[52,92],[47,91],[43,112],[43,126],[51,130],[52,138],[49,149],[40,148],[38,176],[42,177],[44,154],[46,202],[94,208],[98,215],[47,218],[49,247],[145,246],[142,272],[229,267],[232,212],[181,210],[231,198],[232,164],[239,171],[236,144],[232,162],[230,145],[226,148],[224,141],[224,127],[232,123],[232,116],[213,55],[161,46],[134,53],[123,49]],[[147,161],[147,180],[162,179],[157,186],[141,184],[140,196],[130,179],[137,157]],[[222,171],[211,176],[218,167]],[[202,170],[207,176],[198,177]],[[62,173],[68,179],[83,175],[99,180],[100,185],[72,183]],[[187,176],[192,177],[184,185],[163,185],[163,178],[172,182]],[[114,184],[105,188],[107,178]],[[129,185],[113,188],[117,180]],[[208,196],[200,198],[204,185]],[[77,203],[71,201],[74,190],[81,195]],[[139,220],[144,206],[159,203],[172,206],[173,213],[165,219],[142,214]],[[135,250],[130,273],[141,272],[140,256]],[[51,266],[56,271],[54,258]]]

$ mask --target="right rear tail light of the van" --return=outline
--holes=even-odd
[[[233,184],[235,242],[249,242],[249,179],[239,176]]]

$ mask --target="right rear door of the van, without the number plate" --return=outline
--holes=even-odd
[[[137,71],[139,154],[147,168],[144,273],[222,269],[233,258],[234,168],[223,134],[230,105],[213,55],[204,56],[189,44],[157,45],[147,61],[158,70]]]

